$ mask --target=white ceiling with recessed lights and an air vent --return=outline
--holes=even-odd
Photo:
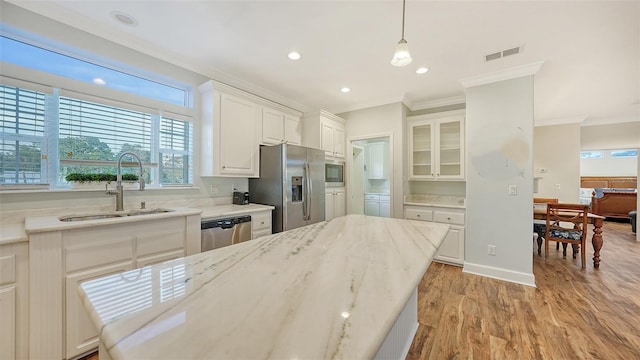
[[[461,79],[542,60],[537,125],[640,121],[637,0],[409,0],[413,63],[402,68],[390,64],[400,0],[10,2],[302,111],[446,104],[464,97]],[[521,54],[484,61],[515,46]],[[291,50],[302,59],[289,60]],[[430,71],[417,75],[421,65]]]

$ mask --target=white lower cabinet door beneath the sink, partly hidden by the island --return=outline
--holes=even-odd
[[[128,261],[66,276],[67,359],[98,348],[98,330],[93,325],[78,294],[80,282],[131,269],[133,269],[133,262]]]

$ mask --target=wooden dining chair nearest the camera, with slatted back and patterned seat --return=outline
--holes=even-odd
[[[555,241],[563,244],[564,256],[567,255],[565,244],[571,244],[574,259],[578,251],[580,251],[582,268],[585,268],[588,214],[589,205],[547,204],[546,231],[544,236],[545,261],[549,259],[549,241]]]

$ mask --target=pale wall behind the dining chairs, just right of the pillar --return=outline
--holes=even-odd
[[[536,197],[578,203],[580,198],[580,125],[539,126],[534,129],[534,176]],[[540,169],[546,169],[546,173]],[[556,185],[559,189],[556,189]]]

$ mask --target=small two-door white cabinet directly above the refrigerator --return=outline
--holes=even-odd
[[[270,107],[262,108],[262,140],[265,145],[302,144],[301,113],[285,113]]]

